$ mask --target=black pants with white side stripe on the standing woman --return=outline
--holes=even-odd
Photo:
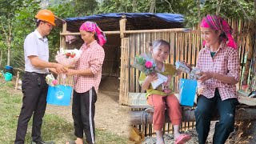
[[[86,134],[86,142],[95,143],[94,114],[97,94],[92,87],[86,93],[77,93],[74,90],[72,115],[74,119],[74,135],[77,138],[83,138],[83,132]]]

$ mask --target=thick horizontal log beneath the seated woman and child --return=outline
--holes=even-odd
[[[153,123],[154,112],[146,110],[130,111],[130,125],[146,125]],[[217,114],[215,114],[217,115]],[[182,110],[183,122],[195,122],[194,110]],[[237,107],[235,119],[237,120],[255,120],[256,107]],[[218,120],[218,116],[211,119]],[[170,118],[166,115],[166,122],[170,122]]]

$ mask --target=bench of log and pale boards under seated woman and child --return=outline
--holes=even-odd
[[[175,94],[178,96],[177,94]],[[238,91],[238,101],[235,120],[255,120],[256,119],[256,98],[246,98],[244,94]],[[154,109],[146,103],[144,93],[130,93],[129,105],[130,111],[130,125],[147,125],[152,124]],[[247,104],[246,104],[247,103]],[[249,103],[249,105],[248,105]],[[194,117],[195,107],[182,106],[182,121],[195,122]],[[218,120],[218,115],[212,118],[212,121]],[[166,115],[166,122],[170,122],[170,118]]]

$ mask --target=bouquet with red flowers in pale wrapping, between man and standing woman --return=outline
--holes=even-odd
[[[62,64],[65,67],[74,67],[75,62],[81,57],[82,51],[81,50],[64,50],[61,48],[55,59],[58,63]]]

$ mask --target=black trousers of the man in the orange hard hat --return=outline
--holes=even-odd
[[[46,96],[48,85],[45,80],[46,74],[28,73],[22,78],[22,110],[18,117],[15,144],[23,144],[26,137],[28,122],[33,115],[32,140],[42,141],[41,126],[42,118],[46,111]]]

